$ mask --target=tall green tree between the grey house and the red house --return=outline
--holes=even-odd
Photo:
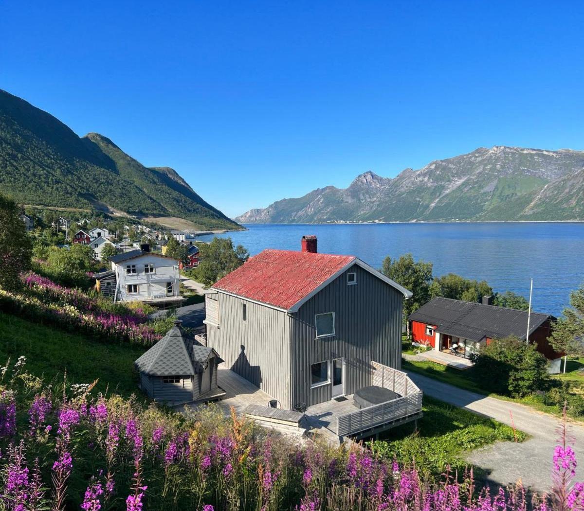
[[[397,282],[412,292],[412,297],[404,300],[404,321],[408,328],[408,316],[430,299],[430,282],[432,282],[432,263],[414,261],[412,254],[405,254],[397,260],[386,257],[381,271],[392,281]]]

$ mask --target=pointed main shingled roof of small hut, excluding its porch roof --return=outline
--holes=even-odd
[[[185,339],[183,332],[175,325],[134,364],[140,372],[151,376],[193,376],[195,371],[187,343],[192,346],[192,342]]]

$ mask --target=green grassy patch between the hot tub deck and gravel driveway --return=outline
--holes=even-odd
[[[442,401],[424,397],[424,417],[418,431],[406,424],[371,442],[374,452],[400,463],[412,463],[425,475],[440,475],[449,464],[459,473],[466,465],[464,454],[499,440],[523,442],[526,435],[493,419],[473,414]]]

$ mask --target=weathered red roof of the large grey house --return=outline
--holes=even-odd
[[[353,255],[264,250],[213,288],[289,310],[355,260]]]

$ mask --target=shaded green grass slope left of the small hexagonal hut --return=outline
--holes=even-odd
[[[8,358],[13,365],[24,355],[26,370],[47,383],[62,382],[67,372],[69,383],[97,379],[98,392],[141,396],[133,363],[144,351],[144,347],[105,344],[0,313],[0,365]]]

